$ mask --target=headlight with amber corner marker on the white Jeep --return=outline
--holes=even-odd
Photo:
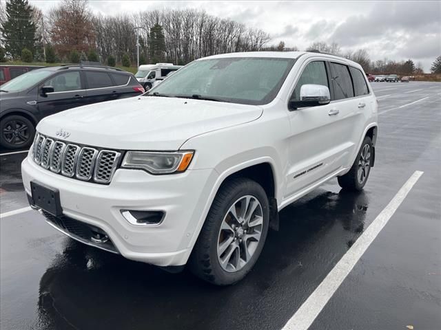
[[[123,168],[138,168],[152,174],[184,172],[192,162],[194,151],[153,153],[149,151],[127,151]]]

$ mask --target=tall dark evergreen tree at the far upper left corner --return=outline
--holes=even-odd
[[[35,24],[28,0],[10,0],[6,3],[6,22],[0,28],[6,52],[14,58],[21,56],[24,48],[34,52]]]

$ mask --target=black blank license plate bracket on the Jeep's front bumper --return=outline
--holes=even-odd
[[[32,204],[52,214],[54,217],[59,217],[63,214],[60,203],[60,192],[57,189],[50,188],[43,184],[37,184],[34,181],[30,182],[32,192]]]

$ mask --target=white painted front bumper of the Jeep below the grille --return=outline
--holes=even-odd
[[[203,210],[217,179],[212,169],[150,175],[143,170],[120,168],[112,182],[104,186],[52,173],[30,157],[23,160],[21,170],[28,195],[30,181],[56,188],[64,217],[103,230],[116,252],[125,258],[159,266],[187,262],[193,236],[203,221]],[[132,225],[121,210],[163,210],[165,217],[159,225]]]

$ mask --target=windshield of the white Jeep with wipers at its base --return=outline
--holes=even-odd
[[[266,104],[276,97],[294,62],[250,57],[194,61],[145,95]]]

